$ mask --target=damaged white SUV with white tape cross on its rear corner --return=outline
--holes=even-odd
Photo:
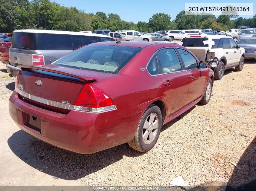
[[[244,67],[244,48],[236,45],[232,37],[223,34],[189,35],[181,40],[182,46],[214,71],[214,78],[220,80],[224,70],[235,67],[242,71]]]

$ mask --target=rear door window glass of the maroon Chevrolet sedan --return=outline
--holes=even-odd
[[[163,74],[181,71],[181,63],[173,48],[158,51],[159,64]]]

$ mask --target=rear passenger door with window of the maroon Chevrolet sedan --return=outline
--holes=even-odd
[[[187,104],[188,75],[174,48],[162,49],[157,55],[169,117]]]

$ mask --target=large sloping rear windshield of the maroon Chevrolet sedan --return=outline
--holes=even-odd
[[[53,65],[117,74],[142,48],[91,45],[57,60]]]

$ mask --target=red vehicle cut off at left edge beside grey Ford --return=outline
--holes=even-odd
[[[7,37],[0,42],[0,61],[2,63],[9,62],[9,49],[11,47],[12,42],[12,33],[8,33]]]

